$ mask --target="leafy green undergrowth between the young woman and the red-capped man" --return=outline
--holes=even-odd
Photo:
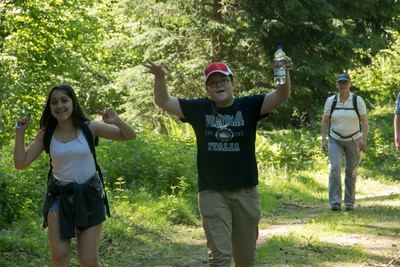
[[[195,149],[193,140],[163,137],[144,129],[134,141],[102,140],[97,157],[111,190],[119,187],[115,182],[123,177],[127,188],[146,188],[161,194],[171,192],[173,186],[178,186],[176,192],[179,192],[182,183],[195,190]]]

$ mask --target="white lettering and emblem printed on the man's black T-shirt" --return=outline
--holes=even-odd
[[[241,111],[235,115],[206,115],[206,126],[216,128],[216,131],[206,131],[206,135],[214,135],[222,142],[209,142],[208,151],[239,152],[239,143],[228,143],[234,136],[243,136],[243,131],[233,132],[228,126],[243,126],[244,120]]]

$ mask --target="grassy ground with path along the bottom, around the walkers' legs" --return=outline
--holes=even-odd
[[[360,178],[356,209],[331,212],[327,176],[326,168],[262,173],[257,266],[400,266],[398,183]],[[103,266],[207,266],[195,193],[124,196],[110,194]],[[51,266],[41,222],[30,214],[1,229],[0,266]],[[79,266],[76,240],[72,246],[71,266]]]

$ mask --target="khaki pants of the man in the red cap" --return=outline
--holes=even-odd
[[[199,209],[207,238],[210,266],[255,266],[260,195],[256,186],[199,192]]]

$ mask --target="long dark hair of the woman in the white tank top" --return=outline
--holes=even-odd
[[[43,142],[44,142],[44,147],[46,153],[49,153],[50,151],[50,138],[49,138],[49,132],[52,131],[54,132],[58,121],[56,118],[54,118],[53,114],[51,114],[51,108],[50,108],[50,102],[51,102],[51,95],[54,91],[63,91],[68,97],[72,99],[72,122],[76,127],[82,127],[84,123],[89,124],[90,119],[83,113],[81,106],[79,105],[78,98],[76,97],[76,94],[74,92],[74,89],[70,85],[67,84],[61,84],[53,87],[49,93],[49,96],[47,97],[47,102],[46,106],[43,110],[42,117],[40,118],[40,129],[44,130],[44,137],[43,137]],[[99,138],[96,137],[95,140],[95,145],[97,146],[99,143]]]

